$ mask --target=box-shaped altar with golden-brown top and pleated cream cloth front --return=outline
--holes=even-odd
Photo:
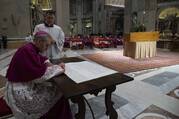
[[[124,55],[135,59],[156,56],[159,32],[133,32],[124,37]]]

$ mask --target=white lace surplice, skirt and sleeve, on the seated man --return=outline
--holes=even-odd
[[[58,65],[48,67],[40,78],[25,83],[7,82],[5,100],[16,119],[38,119],[61,98],[55,82],[47,81],[60,74]]]

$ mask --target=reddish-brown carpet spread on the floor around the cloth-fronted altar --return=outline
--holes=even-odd
[[[157,52],[156,57],[140,60],[125,57],[122,51],[104,51],[83,56],[103,66],[119,71],[120,73],[129,73],[179,64],[179,53],[174,52],[160,51]]]

